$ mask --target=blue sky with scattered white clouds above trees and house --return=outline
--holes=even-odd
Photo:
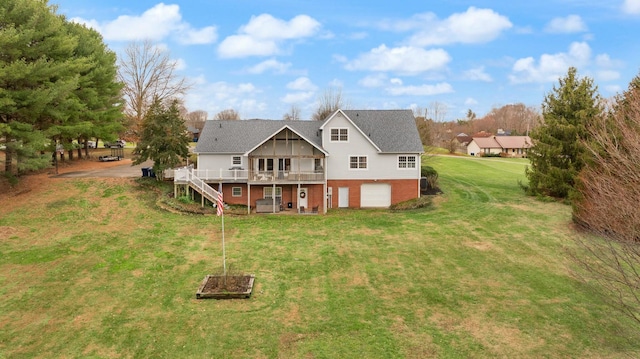
[[[640,0],[51,0],[120,53],[166,47],[209,118],[311,117],[341,88],[353,109],[446,106],[446,120],[493,107],[539,108],[569,66],[604,97],[640,70]]]

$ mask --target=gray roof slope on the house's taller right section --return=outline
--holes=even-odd
[[[411,110],[343,110],[382,152],[422,153]]]

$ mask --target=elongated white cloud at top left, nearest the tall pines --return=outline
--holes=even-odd
[[[148,9],[140,16],[122,15],[105,23],[82,18],[73,18],[71,21],[96,29],[107,41],[159,41],[173,36],[184,44],[209,44],[215,42],[218,37],[214,26],[193,29],[191,25],[182,21],[180,6],[164,3]]]

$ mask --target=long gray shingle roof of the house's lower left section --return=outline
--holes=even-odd
[[[208,120],[196,145],[196,153],[245,153],[285,126],[322,148],[320,121]]]

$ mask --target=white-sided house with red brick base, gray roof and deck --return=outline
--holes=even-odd
[[[389,207],[420,196],[411,110],[337,110],[325,121],[210,120],[193,175],[258,212]]]

